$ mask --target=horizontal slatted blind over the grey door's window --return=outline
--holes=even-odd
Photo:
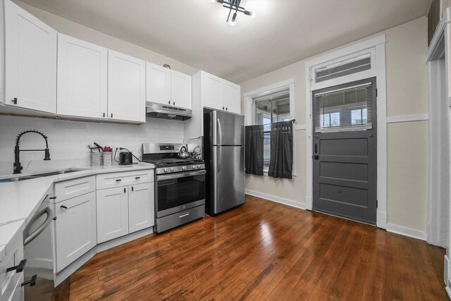
[[[314,95],[315,130],[335,132],[372,128],[373,84],[371,82],[342,90]]]

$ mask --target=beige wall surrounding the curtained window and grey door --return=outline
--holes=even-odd
[[[385,33],[387,40],[385,54],[388,116],[427,113],[424,61],[427,50],[426,17],[379,32],[377,35],[382,33]],[[241,91],[244,94],[294,78],[295,119],[297,125],[302,125],[305,123],[305,61],[298,61],[242,82]],[[388,223],[417,231],[426,231],[427,131],[427,121],[388,125]],[[305,154],[305,130],[297,130],[297,162],[294,171],[297,177],[294,180],[276,180],[265,176],[247,176],[246,189],[305,204]]]

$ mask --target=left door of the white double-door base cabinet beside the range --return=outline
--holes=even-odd
[[[97,190],[97,242],[128,234],[128,188]]]

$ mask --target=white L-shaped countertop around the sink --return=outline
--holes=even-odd
[[[132,165],[112,165],[112,166],[97,166],[97,167],[79,167],[74,166],[74,169],[84,169],[72,173],[63,173],[56,176],[47,176],[42,178],[34,178],[29,180],[21,180],[18,182],[0,183],[0,246],[3,240],[6,240],[7,231],[13,231],[13,227],[3,228],[8,224],[16,221],[30,220],[35,211],[41,204],[44,197],[53,189],[55,182],[63,180],[70,180],[73,178],[81,178],[85,176],[94,176],[101,173],[115,173],[123,171],[139,171],[143,169],[153,169],[153,164],[140,163]],[[67,168],[66,168],[67,169]],[[48,171],[40,171],[44,173]],[[3,178],[13,178],[16,176],[27,176],[35,173],[23,173],[19,175],[6,175]],[[8,232],[9,233],[9,232]]]

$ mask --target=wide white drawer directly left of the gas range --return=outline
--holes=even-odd
[[[154,182],[153,170],[106,173],[97,176],[97,189],[115,188],[149,182]]]

